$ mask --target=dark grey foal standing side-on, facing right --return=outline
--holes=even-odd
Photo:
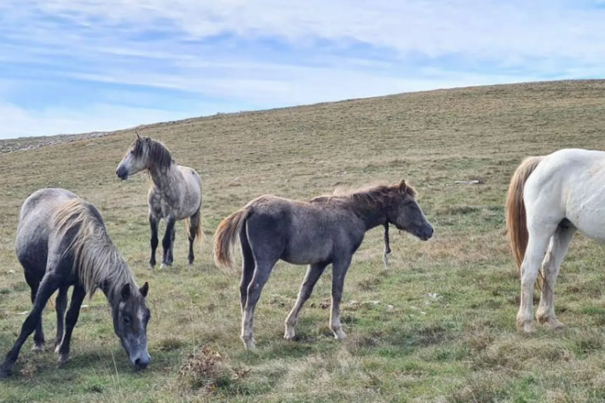
[[[337,339],[344,338],[340,301],[353,253],[361,245],[366,231],[389,223],[422,240],[433,236],[433,227],[416,203],[416,190],[405,181],[356,192],[335,192],[309,202],[260,196],[223,219],[215,234],[214,261],[219,267],[230,269],[233,265],[231,248],[239,237],[243,260],[241,340],[246,348],[254,347],[254,309],[273,265],[280,259],[295,265],[309,264],[296,303],[286,319],[284,338],[292,340],[295,337],[294,326],[302,305],[330,263],[330,327]]]

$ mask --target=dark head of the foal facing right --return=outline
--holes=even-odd
[[[416,202],[416,190],[405,180],[392,188],[391,202],[387,209],[387,221],[422,240],[433,236],[433,226]]]

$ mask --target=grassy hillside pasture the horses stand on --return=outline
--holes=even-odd
[[[53,298],[47,350],[31,352],[30,337],[14,375],[0,381],[0,401],[605,401],[605,250],[575,236],[555,289],[566,327],[538,324],[523,335],[503,232],[508,181],[525,156],[605,148],[604,94],[604,81],[487,86],[139,127],[203,181],[206,240],[195,265],[186,264],[179,222],[175,263],[161,271],[147,263],[148,178],[114,173],[134,131],[0,155],[2,358],[31,306],[14,240],[21,203],[40,187],[64,187],[99,207],[137,281],[149,282],[152,311],[147,370],[128,366],[101,292],[85,300],[71,361],[57,369]],[[367,233],[345,280],[347,340],[329,329],[330,269],[302,311],[299,340],[283,340],[305,268],[280,262],[257,306],[257,350],[244,350],[239,277],[212,257],[220,220],[264,193],[309,199],[402,178],[419,190],[435,236],[391,231],[385,269],[382,228]],[[466,179],[480,184],[456,183]]]

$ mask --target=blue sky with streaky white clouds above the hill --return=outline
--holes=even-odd
[[[605,77],[605,0],[2,0],[0,138]]]

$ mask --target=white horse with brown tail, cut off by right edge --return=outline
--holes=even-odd
[[[557,274],[575,231],[605,241],[605,152],[562,149],[526,158],[515,170],[506,196],[506,229],[521,272],[517,328],[534,330],[532,301],[542,269],[536,317],[553,328]]]

